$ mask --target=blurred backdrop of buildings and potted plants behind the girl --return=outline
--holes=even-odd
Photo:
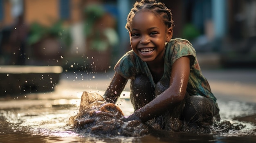
[[[256,0],[160,0],[173,38],[190,40],[205,67],[255,68]],[[106,71],[128,50],[135,0],[0,0],[0,65]]]

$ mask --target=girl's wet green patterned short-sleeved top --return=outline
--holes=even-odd
[[[159,82],[166,83],[169,86],[172,65],[177,59],[184,56],[188,56],[190,59],[190,75],[187,86],[188,94],[201,95],[212,99],[218,108],[216,97],[212,94],[207,79],[202,75],[195,49],[187,40],[171,39],[170,42],[166,44],[164,53],[164,75]],[[135,78],[137,75],[146,75],[153,90],[155,90],[157,83],[154,82],[147,63],[143,62],[133,51],[128,51],[121,57],[114,70],[126,79]]]

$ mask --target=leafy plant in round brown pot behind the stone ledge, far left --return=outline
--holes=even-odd
[[[71,44],[68,29],[63,28],[63,22],[58,21],[52,26],[33,23],[29,29],[27,44],[31,48],[30,56],[34,64],[60,65],[65,47]]]

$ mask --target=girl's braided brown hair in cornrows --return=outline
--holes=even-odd
[[[130,25],[132,23],[135,14],[141,11],[150,11],[155,15],[160,15],[163,22],[168,28],[173,28],[173,18],[171,9],[168,9],[163,3],[156,2],[155,0],[141,0],[141,2],[135,2],[133,8],[127,16],[126,29],[130,32]]]

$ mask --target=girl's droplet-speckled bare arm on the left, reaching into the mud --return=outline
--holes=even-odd
[[[105,100],[110,103],[116,103],[121,92],[124,90],[124,86],[126,85],[127,81],[128,79],[115,72],[113,79],[104,93]]]

